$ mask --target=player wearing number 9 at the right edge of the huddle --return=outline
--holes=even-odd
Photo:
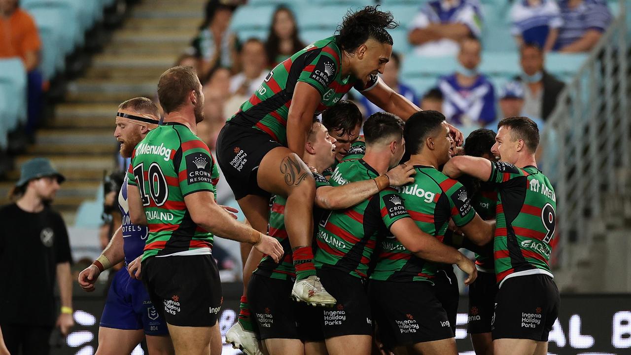
[[[543,355],[560,303],[548,265],[556,196],[550,180],[536,167],[536,123],[528,117],[508,117],[497,127],[491,150],[500,161],[454,157],[443,172],[451,178],[468,174],[497,190],[493,254],[499,289],[491,328],[493,353]]]

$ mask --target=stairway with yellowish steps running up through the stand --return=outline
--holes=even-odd
[[[85,75],[68,86],[54,119],[37,132],[35,144],[16,159],[16,169],[0,183],[0,203],[20,176],[20,165],[47,157],[68,178],[54,207],[74,223],[78,206],[93,199],[105,171],[115,168],[114,117],[118,105],[133,97],[155,99],[160,74],[175,63],[197,32],[205,0],[145,0],[93,57]]]

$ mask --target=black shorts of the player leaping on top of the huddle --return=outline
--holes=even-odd
[[[259,188],[256,173],[263,157],[276,147],[283,145],[258,129],[231,122],[221,128],[217,137],[217,161],[236,200],[247,195],[269,198],[270,194]]]

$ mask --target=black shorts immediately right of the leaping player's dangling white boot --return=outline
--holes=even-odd
[[[339,335],[372,335],[372,315],[366,282],[333,267],[317,270],[322,286],[338,303],[322,312],[324,338]]]

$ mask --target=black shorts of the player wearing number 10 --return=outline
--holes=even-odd
[[[151,302],[168,324],[215,325],[223,297],[212,255],[151,256],[141,270]]]

